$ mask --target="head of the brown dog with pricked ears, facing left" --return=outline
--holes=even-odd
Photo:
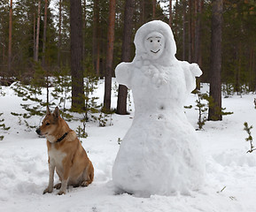
[[[49,107],[46,109],[46,116],[43,118],[42,125],[36,129],[36,133],[39,135],[54,136],[58,129],[59,119],[61,118],[58,107],[55,108],[53,113],[50,113]]]

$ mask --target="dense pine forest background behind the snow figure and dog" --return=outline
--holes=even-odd
[[[255,0],[1,0],[1,84],[19,80],[49,86],[45,77],[73,75],[71,26],[77,22],[71,11],[75,5],[81,6],[75,9],[79,12],[73,13],[81,20],[81,40],[74,38],[74,42],[81,47],[82,65],[77,72],[82,72],[83,77],[114,77],[115,66],[134,57],[136,30],[152,19],[160,19],[172,27],[176,57],[198,63],[204,72],[200,81],[211,82],[214,2],[221,4],[222,88],[238,95],[244,90],[254,92]],[[132,11],[129,17],[127,11]],[[128,38],[126,27],[131,32]],[[126,48],[128,57],[124,58]]]

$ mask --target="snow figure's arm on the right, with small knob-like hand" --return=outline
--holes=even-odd
[[[182,69],[186,79],[187,91],[190,93],[197,87],[196,77],[200,77],[203,72],[199,68],[198,64],[190,64],[186,61],[182,61]]]

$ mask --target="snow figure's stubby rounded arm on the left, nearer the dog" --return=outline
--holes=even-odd
[[[115,76],[119,84],[131,88],[131,64],[120,63],[115,68]]]

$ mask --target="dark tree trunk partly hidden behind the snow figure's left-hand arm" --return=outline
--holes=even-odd
[[[130,62],[134,11],[135,11],[135,0],[126,0],[125,14],[124,14],[124,31],[123,31],[123,41],[122,41],[122,51],[121,51],[122,52],[121,60],[123,62]],[[128,88],[126,86],[120,85],[116,113],[120,115],[128,114],[127,96],[128,96]]]

